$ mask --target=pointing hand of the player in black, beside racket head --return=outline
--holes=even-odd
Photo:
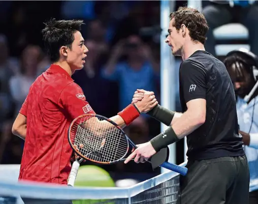
[[[136,163],[144,163],[156,153],[150,142],[138,144],[137,147],[138,148],[135,149],[133,153],[126,158],[124,161],[125,164],[134,158]]]

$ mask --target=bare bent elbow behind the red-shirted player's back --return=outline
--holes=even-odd
[[[18,113],[12,127],[12,133],[25,140],[27,131],[27,117]]]

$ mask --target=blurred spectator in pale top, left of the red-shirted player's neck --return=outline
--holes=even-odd
[[[15,115],[18,114],[28,94],[30,85],[36,79],[41,56],[41,48],[35,45],[28,45],[22,52],[20,63],[21,73],[13,76],[10,80],[10,90],[16,106]]]

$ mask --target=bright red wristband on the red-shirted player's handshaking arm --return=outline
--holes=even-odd
[[[117,114],[121,116],[125,125],[128,126],[140,116],[141,111],[135,104],[130,104]]]

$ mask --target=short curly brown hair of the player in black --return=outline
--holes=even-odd
[[[201,42],[204,44],[207,40],[206,33],[209,27],[204,15],[197,9],[179,7],[179,9],[172,12],[169,17],[170,20],[175,18],[173,26],[176,27],[177,31],[179,31],[182,24],[185,24],[193,42]]]

